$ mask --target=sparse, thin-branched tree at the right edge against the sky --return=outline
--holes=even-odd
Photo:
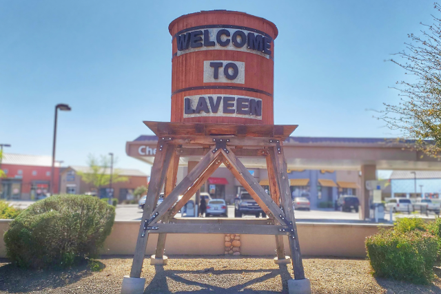
[[[434,3],[437,13],[441,12]],[[406,139],[416,140],[413,147],[428,156],[440,158],[441,151],[441,19],[433,24],[420,23],[420,36],[408,34],[406,48],[390,59],[402,67],[408,81],[398,81],[394,89],[400,92],[398,105],[384,103],[379,119],[391,129],[399,130]]]

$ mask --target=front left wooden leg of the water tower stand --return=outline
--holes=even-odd
[[[145,199],[143,217],[141,218],[141,226],[139,227],[138,240],[136,241],[135,254],[133,257],[132,271],[130,271],[130,277],[141,277],[141,270],[143,268],[145,247],[147,246],[148,232],[143,234],[143,226],[145,220],[149,219],[152,215],[154,207],[156,207],[156,199],[164,184],[165,174],[170,160],[174,154],[175,146],[168,145],[163,141],[158,141],[156,147],[156,156],[154,158],[152,167],[152,178],[150,179],[150,186],[147,190],[147,198]]]

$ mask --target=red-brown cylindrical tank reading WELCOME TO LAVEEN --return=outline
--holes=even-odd
[[[274,23],[212,10],[178,17],[169,32],[172,122],[274,124]]]

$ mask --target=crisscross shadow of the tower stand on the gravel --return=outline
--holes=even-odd
[[[256,270],[234,270],[234,269],[225,269],[225,270],[218,270],[215,271],[213,268],[208,271],[173,271],[173,270],[165,270],[162,265],[156,265],[155,266],[156,274],[154,275],[153,280],[148,284],[147,288],[145,288],[144,294],[148,293],[263,293],[263,294],[269,294],[269,293],[280,293],[278,291],[263,291],[263,290],[253,290],[246,288],[248,286],[251,286],[253,284],[258,284],[260,282],[264,282],[265,280],[269,280],[271,278],[277,277],[280,275],[280,279],[282,280],[283,284],[283,291],[282,293],[288,293],[288,286],[287,281],[291,280],[292,277],[289,274],[289,271],[287,269],[286,264],[279,264],[278,269],[256,269]],[[262,273],[260,277],[255,277],[252,280],[246,280],[245,277],[247,277],[247,273]],[[241,274],[244,277],[244,282],[240,284],[236,284],[234,286],[227,287],[225,285],[223,286],[215,286],[213,284],[209,284],[209,282],[198,282],[194,281],[189,277],[185,276],[198,276],[197,280],[204,280],[201,275],[213,275],[216,276],[216,278],[225,275],[226,278],[228,278],[228,275],[238,275]],[[174,280],[174,282],[181,284],[185,288],[185,286],[196,286],[201,288],[200,290],[194,291],[170,291],[168,288],[167,280]]]

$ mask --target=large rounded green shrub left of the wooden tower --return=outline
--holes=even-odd
[[[22,267],[70,266],[99,253],[114,218],[114,207],[96,197],[52,196],[11,222],[4,236],[6,253]]]

